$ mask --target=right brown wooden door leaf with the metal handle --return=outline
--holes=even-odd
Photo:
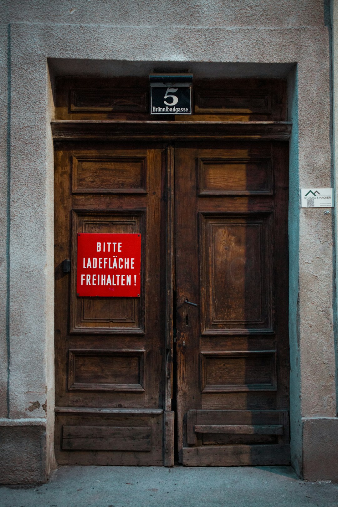
[[[277,141],[175,148],[185,465],[289,462],[287,167]]]

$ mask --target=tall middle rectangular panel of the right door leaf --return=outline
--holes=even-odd
[[[202,214],[203,334],[272,333],[271,213]]]

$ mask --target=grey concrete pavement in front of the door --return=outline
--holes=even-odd
[[[338,484],[288,466],[62,466],[41,486],[2,486],[1,507],[337,507]]]

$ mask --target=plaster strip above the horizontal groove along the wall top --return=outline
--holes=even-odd
[[[321,0],[9,0],[12,22],[100,24],[117,26],[322,26]]]

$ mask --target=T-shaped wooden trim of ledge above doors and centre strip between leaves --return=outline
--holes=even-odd
[[[174,149],[176,140],[278,140],[289,141],[292,123],[255,122],[179,122],[179,121],[97,121],[53,120],[54,141],[73,140],[142,140],[167,142],[166,149],[166,296],[165,296],[165,403],[163,407],[163,464],[174,464],[173,389],[173,291],[174,291]],[[171,255],[170,255],[171,252]]]

